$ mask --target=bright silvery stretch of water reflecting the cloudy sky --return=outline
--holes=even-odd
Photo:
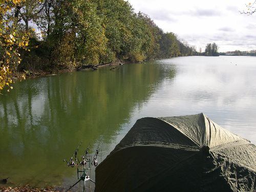
[[[229,131],[256,143],[256,57],[182,57],[137,116],[165,117],[204,112]],[[152,113],[154,111],[154,113]]]

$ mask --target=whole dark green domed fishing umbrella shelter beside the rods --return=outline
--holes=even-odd
[[[95,191],[255,192],[256,147],[204,114],[142,118],[96,168]]]

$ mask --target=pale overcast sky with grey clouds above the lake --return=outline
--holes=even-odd
[[[135,12],[149,15],[164,32],[174,32],[204,50],[216,42],[219,51],[256,49],[256,13],[240,14],[254,0],[129,0]]]

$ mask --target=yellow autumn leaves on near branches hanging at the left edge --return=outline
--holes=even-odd
[[[29,45],[29,32],[19,34],[16,30],[15,18],[9,14],[22,2],[25,0],[0,0],[0,92],[4,87],[9,88],[8,92],[13,89],[10,86],[13,83],[12,70],[22,60],[18,50],[27,50]]]

